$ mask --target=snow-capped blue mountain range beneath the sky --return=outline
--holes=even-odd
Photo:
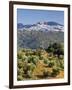
[[[19,23],[17,25],[17,28],[20,30],[36,30],[36,31],[64,31],[64,26],[57,23],[57,22],[37,22],[36,24],[31,24],[31,25],[23,25]]]

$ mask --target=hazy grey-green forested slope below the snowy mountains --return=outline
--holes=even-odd
[[[30,48],[37,49],[48,48],[49,44],[54,42],[63,43],[64,42],[64,32],[57,31],[36,31],[36,30],[18,30],[17,32],[17,45],[19,48]],[[52,49],[52,48],[51,48]]]

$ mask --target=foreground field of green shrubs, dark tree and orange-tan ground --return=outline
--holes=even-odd
[[[64,78],[64,47],[53,43],[47,49],[21,48],[17,53],[17,80]]]

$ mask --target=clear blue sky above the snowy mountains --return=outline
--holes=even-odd
[[[17,23],[35,24],[54,21],[64,25],[64,11],[17,9]]]

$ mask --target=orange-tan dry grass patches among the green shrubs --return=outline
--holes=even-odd
[[[23,53],[22,53],[22,55],[23,55]],[[24,55],[25,55],[25,52],[24,52]],[[46,51],[42,52],[41,56],[44,58],[51,57],[51,56],[49,57],[49,54]],[[57,58],[54,58],[54,56],[52,56],[51,58],[57,59]],[[36,67],[32,71],[31,79],[44,79],[45,78],[45,77],[43,77],[44,70],[52,73],[53,67],[48,67],[48,64],[45,64],[44,60],[38,60],[38,62],[36,63]],[[40,76],[40,77],[37,77],[37,76]],[[46,77],[46,79],[58,79],[58,78],[64,78],[64,71],[63,70],[60,70],[60,72],[55,77],[52,77],[52,76]]]

